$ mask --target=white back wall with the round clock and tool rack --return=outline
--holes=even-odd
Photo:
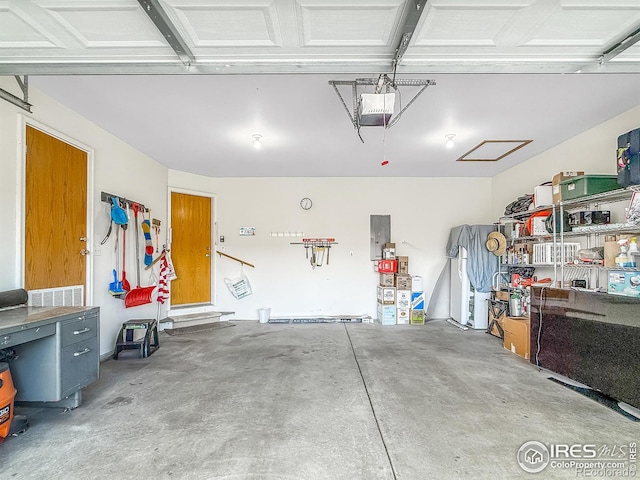
[[[398,255],[409,256],[412,275],[424,279],[427,299],[446,262],[449,230],[463,223],[491,222],[488,178],[208,178],[171,170],[170,188],[215,194],[217,236],[225,253],[253,263],[245,267],[254,293],[236,300],[223,279],[240,265],[215,256],[217,308],[234,319],[272,316],[376,316],[378,274],[370,261],[370,215],[391,215]],[[303,197],[313,207],[303,211]],[[241,237],[240,227],[256,227]],[[333,237],[330,263],[312,269],[304,247],[271,232]],[[180,275],[180,272],[177,272]]]

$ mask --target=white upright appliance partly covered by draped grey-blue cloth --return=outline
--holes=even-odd
[[[449,315],[460,325],[476,330],[489,326],[491,293],[476,291],[467,274],[467,250],[458,247],[458,256],[451,259],[451,297]]]

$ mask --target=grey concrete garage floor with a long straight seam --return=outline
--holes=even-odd
[[[18,409],[12,479],[501,479],[526,441],[623,445],[640,424],[484,332],[231,322],[101,364],[73,410]]]

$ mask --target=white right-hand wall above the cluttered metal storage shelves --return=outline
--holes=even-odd
[[[640,107],[612,118],[554,148],[493,177],[494,219],[519,196],[551,181],[561,171],[616,174],[618,136],[640,127]]]

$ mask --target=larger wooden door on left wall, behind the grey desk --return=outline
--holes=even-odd
[[[25,289],[84,285],[87,152],[27,126]]]

